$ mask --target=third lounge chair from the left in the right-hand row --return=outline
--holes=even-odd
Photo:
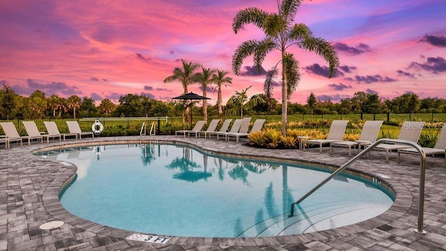
[[[415,122],[415,121],[406,121],[401,126],[401,130],[399,131],[399,135],[397,139],[408,140],[411,142],[418,142],[420,139],[421,130],[423,129],[424,122]],[[399,149],[410,149],[412,146],[404,145],[404,144],[378,144],[375,146],[373,150],[385,151],[385,160],[389,160],[389,154],[393,150]]]

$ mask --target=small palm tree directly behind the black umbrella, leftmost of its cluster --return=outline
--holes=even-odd
[[[189,86],[190,84],[193,84],[195,82],[194,79],[194,71],[197,70],[200,67],[199,63],[193,63],[191,62],[187,62],[184,59],[181,59],[181,63],[183,63],[183,68],[179,68],[176,67],[174,69],[174,75],[171,75],[169,77],[166,77],[166,79],[164,79],[164,83],[170,83],[170,82],[181,82],[181,84],[183,84],[183,89],[184,89],[184,93],[188,93],[187,91],[187,86]],[[190,115],[189,115],[189,107],[186,107],[186,121],[187,123],[190,122]],[[184,126],[184,121],[183,121],[183,126]]]

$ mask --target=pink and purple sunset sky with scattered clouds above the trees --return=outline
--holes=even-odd
[[[261,39],[255,26],[231,29],[237,11],[256,6],[277,12],[275,0],[1,0],[0,82],[29,96],[39,89],[116,102],[128,93],[169,100],[183,93],[180,83],[163,84],[180,59],[227,70],[233,86],[223,99],[252,86],[263,93],[265,75],[246,59],[239,76],[231,72],[238,45]],[[341,67],[328,79],[328,64],[293,47],[302,80],[291,102],[306,103],[311,92],[337,102],[357,91],[394,98],[446,98],[445,0],[303,1],[295,22],[330,41]],[[269,54],[265,70],[278,54]],[[199,85],[190,91],[202,93]],[[215,104],[217,93],[208,91]],[[279,102],[280,87],[275,87]]]

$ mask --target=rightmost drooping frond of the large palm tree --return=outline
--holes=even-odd
[[[328,67],[330,68],[330,75],[328,77],[333,77],[334,72],[339,67],[339,57],[330,42],[323,38],[309,37],[302,42],[302,47],[322,56],[322,58],[327,61],[329,65]]]

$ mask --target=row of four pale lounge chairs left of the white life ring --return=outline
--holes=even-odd
[[[15,128],[15,125],[13,122],[2,122],[0,123],[0,126],[3,128],[3,131],[5,132],[5,135],[2,135],[0,137],[0,143],[5,144],[5,148],[8,149],[11,142],[19,142],[20,145],[23,145],[24,140],[28,140],[28,145],[31,144],[31,140],[36,139],[43,143],[43,140],[47,140],[47,143],[49,143],[49,139],[57,139],[59,138],[59,141],[63,139],[65,141],[66,137],[68,136],[74,136],[76,139],[82,139],[82,135],[91,135],[91,137],[94,137],[93,132],[82,132],[79,123],[77,121],[66,121],[69,133],[61,133],[59,131],[59,128],[57,128],[56,123],[54,121],[44,121],[45,128],[47,129],[46,132],[42,133],[38,130],[36,123],[34,121],[22,121],[25,130],[26,135],[20,136],[19,132],[17,132],[17,128]]]

